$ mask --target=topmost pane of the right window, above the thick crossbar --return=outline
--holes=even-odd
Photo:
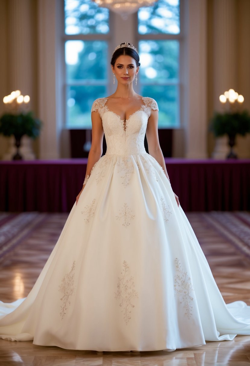
[[[179,0],[158,0],[151,7],[138,10],[139,34],[179,34]]]

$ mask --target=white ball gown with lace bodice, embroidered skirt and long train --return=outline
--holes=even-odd
[[[26,299],[1,303],[0,337],[75,350],[154,351],[250,335],[226,305],[144,136],[157,103],[124,121],[99,98],[107,152]]]

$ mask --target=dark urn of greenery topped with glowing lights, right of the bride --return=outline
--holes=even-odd
[[[233,90],[233,89],[230,89]],[[229,103],[231,105],[236,100],[236,97],[242,97],[232,96],[230,101],[230,90],[228,92],[225,92],[225,99],[222,98],[223,96],[220,96],[220,101],[222,103],[225,103],[227,98],[229,98]],[[229,93],[229,97],[228,94]],[[234,99],[235,98],[235,99]],[[243,98],[243,97],[242,97]],[[240,99],[241,100],[241,99]],[[243,99],[244,100],[244,99]],[[243,100],[241,102],[243,102]],[[241,103],[240,102],[240,103]],[[222,113],[215,112],[213,117],[210,120],[210,131],[214,133],[216,137],[220,137],[223,135],[228,135],[228,145],[230,146],[230,152],[227,156],[227,158],[234,158],[236,159],[237,156],[233,150],[233,147],[235,145],[235,138],[236,135],[242,135],[245,136],[247,133],[250,132],[250,115],[249,113],[245,111],[235,111],[236,107],[232,107],[229,109],[229,111],[225,111]]]

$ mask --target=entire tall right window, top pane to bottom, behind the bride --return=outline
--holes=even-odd
[[[139,9],[141,94],[157,100],[159,128],[179,126],[179,34],[179,0]]]

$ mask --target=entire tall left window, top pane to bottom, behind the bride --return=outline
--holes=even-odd
[[[107,95],[109,10],[65,0],[64,11],[66,127],[91,128],[92,103]]]

